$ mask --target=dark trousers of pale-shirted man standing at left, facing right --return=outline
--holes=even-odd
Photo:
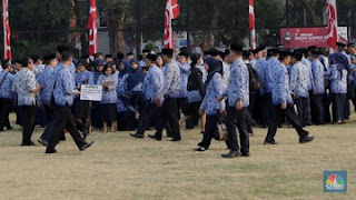
[[[23,111],[22,144],[30,144],[36,122],[36,106],[21,106]]]

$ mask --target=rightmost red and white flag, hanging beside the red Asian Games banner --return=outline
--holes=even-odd
[[[329,17],[328,22],[328,34],[327,34],[327,46],[330,50],[336,49],[337,42],[337,9],[336,9],[336,0],[327,0],[327,14]]]

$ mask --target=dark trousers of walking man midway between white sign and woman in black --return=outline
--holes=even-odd
[[[157,119],[154,122],[157,110],[158,108],[156,104],[145,102],[145,107],[137,128],[137,133],[145,134],[146,129],[149,128],[151,124],[157,129]]]

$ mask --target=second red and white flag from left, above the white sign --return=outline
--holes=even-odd
[[[95,53],[98,52],[98,24],[97,24],[96,0],[90,0],[88,29],[89,29],[89,54],[93,56]]]

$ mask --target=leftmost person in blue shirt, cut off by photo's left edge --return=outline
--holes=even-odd
[[[14,79],[10,61],[3,60],[1,66],[3,70],[0,72],[0,132],[4,127],[10,127],[9,113],[13,99],[11,88]]]

